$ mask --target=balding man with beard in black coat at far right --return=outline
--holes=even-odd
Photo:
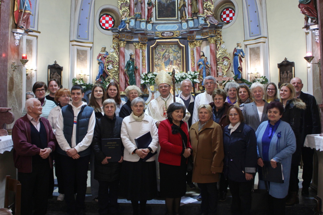
[[[319,134],[321,133],[321,123],[318,113],[318,106],[315,97],[303,93],[302,80],[298,77],[293,78],[290,83],[294,86],[296,91],[296,97],[300,98],[305,104],[306,109],[303,111],[303,125],[301,131],[301,142],[304,143],[307,134]],[[303,182],[302,182],[302,195],[308,195],[308,188],[312,181],[313,173],[313,154],[314,149],[309,147],[302,147],[302,160],[303,160]]]

